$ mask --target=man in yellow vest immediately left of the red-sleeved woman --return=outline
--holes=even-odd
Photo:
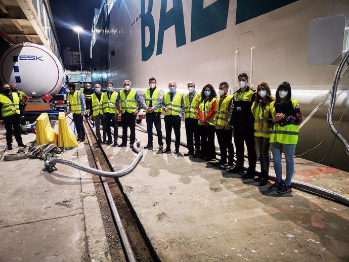
[[[194,158],[200,155],[200,130],[199,130],[199,115],[198,103],[200,101],[200,93],[195,91],[195,83],[190,81],[187,83],[189,94],[184,98],[184,113],[186,123],[186,136],[188,152],[185,156],[192,155]],[[194,150],[195,141],[195,150]]]

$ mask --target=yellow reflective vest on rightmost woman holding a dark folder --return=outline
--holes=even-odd
[[[299,105],[297,100],[291,100],[293,108]],[[275,117],[276,111],[274,107],[275,101],[270,103],[270,112],[272,117]],[[299,124],[287,124],[280,126],[279,123],[274,123],[272,134],[270,135],[270,143],[279,142],[281,144],[296,145],[298,142]]]

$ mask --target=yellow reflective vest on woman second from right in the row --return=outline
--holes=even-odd
[[[254,116],[254,136],[255,137],[264,137],[264,138],[270,138],[270,134],[272,133],[272,127],[270,123],[268,122],[268,118],[270,115],[270,103],[267,101],[265,104],[265,107],[262,108],[261,102],[258,102],[256,105],[255,110],[253,111],[253,107],[256,102],[253,102],[251,110],[252,114]],[[259,122],[261,122],[262,129],[259,130]]]

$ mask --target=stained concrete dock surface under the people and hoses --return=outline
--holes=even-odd
[[[147,134],[136,129],[144,150]],[[8,153],[4,133],[0,128],[1,154]],[[24,143],[35,140],[33,134],[22,137]],[[60,158],[88,166],[86,143]],[[128,147],[103,149],[115,170],[136,156]],[[179,154],[162,154],[154,137],[154,148],[144,150],[136,169],[120,178],[161,261],[349,260],[348,207],[297,189],[276,194],[241,174],[184,157],[186,152],[181,147]],[[110,261],[91,175],[56,166],[49,173],[42,160],[2,157],[0,261]],[[347,174],[297,164],[294,179],[348,196]]]

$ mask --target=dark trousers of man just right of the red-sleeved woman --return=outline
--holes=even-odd
[[[227,163],[227,151],[228,151],[228,165],[233,164],[234,159],[234,147],[233,147],[233,129],[229,130],[215,129],[217,135],[218,144],[220,145],[221,151],[221,162]]]

